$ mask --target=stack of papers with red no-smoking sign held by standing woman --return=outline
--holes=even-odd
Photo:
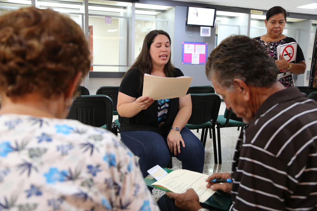
[[[277,50],[277,59],[280,59],[280,54],[283,56],[283,58],[288,61],[295,63],[296,60],[296,52],[297,52],[297,42],[290,42],[283,45],[279,45],[276,48]],[[277,78],[283,78],[287,75],[292,74],[288,70],[280,70],[279,74],[277,75]]]

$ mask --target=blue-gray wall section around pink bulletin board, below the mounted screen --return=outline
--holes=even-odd
[[[186,26],[187,7],[175,7],[175,30],[174,30],[174,55],[173,64],[179,68],[185,76],[193,77],[191,86],[212,85],[207,80],[205,65],[182,65],[182,42],[208,42],[207,58],[215,48],[216,28],[211,28],[210,37],[200,36],[200,27]]]

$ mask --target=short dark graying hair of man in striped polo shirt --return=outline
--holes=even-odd
[[[216,75],[225,88],[239,78],[247,85],[269,87],[277,81],[278,68],[263,46],[247,36],[235,35],[223,40],[208,57],[206,75]]]

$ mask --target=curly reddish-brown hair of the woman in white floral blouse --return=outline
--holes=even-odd
[[[89,71],[90,51],[80,26],[51,9],[28,7],[0,16],[0,90],[60,95],[78,72]]]

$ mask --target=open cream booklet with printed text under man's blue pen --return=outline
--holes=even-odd
[[[206,174],[189,171],[185,169],[178,169],[168,173],[159,181],[151,185],[161,186],[174,193],[185,193],[187,189],[195,190],[199,197],[199,202],[204,203],[211,195],[215,193],[210,188],[206,188],[206,179],[209,176]]]

